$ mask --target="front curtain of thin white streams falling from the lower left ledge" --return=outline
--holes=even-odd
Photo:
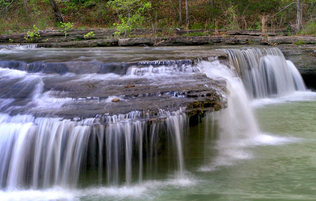
[[[144,155],[157,156],[156,152],[161,151],[158,144],[167,139],[163,135],[171,137],[176,147],[174,151],[178,153],[179,172],[183,174],[181,141],[187,122],[184,108],[175,112],[160,110],[159,114],[163,119],[151,125],[148,125],[151,115],[141,112],[78,121],[1,114],[0,184],[8,189],[76,186],[82,169],[87,166],[95,170],[101,181],[104,162],[107,182],[119,184],[124,159],[125,183],[129,185],[133,180],[132,154],[135,151],[141,182]],[[148,126],[152,130],[149,133]],[[161,133],[162,130],[165,133]]]

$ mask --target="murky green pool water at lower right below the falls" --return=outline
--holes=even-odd
[[[276,138],[268,139],[270,145],[243,148],[251,157],[195,172],[195,185],[157,200],[316,200],[316,101],[268,105],[255,113],[261,130]]]

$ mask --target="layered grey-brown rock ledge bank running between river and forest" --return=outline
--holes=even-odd
[[[38,31],[40,38],[29,39],[39,47],[97,47],[97,46],[161,46],[161,45],[279,45],[315,44],[316,37],[294,36],[287,29],[274,33],[258,30],[182,30],[182,29],[135,29],[130,38],[113,38],[115,29],[72,29],[65,34],[60,30]],[[84,37],[93,32],[94,36]],[[154,33],[154,34],[153,34]],[[27,33],[0,35],[0,43],[27,43]]]

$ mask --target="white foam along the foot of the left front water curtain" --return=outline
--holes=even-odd
[[[159,198],[165,189],[178,189],[194,186],[193,178],[174,178],[167,180],[148,180],[131,186],[91,186],[83,189],[61,187],[46,190],[0,191],[3,201],[50,201],[50,200],[149,200]]]

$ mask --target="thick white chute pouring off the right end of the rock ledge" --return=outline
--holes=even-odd
[[[249,139],[260,131],[255,116],[252,113],[250,100],[241,79],[232,69],[221,64],[219,60],[213,62],[202,61],[197,64],[206,76],[224,80],[227,83],[227,108],[217,112],[219,126],[219,142],[223,146],[236,143],[237,139]],[[236,120],[238,119],[238,120]]]

